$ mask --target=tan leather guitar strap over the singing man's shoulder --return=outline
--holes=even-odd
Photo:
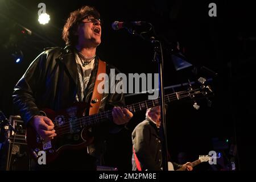
[[[97,71],[96,81],[93,88],[92,100],[90,102],[89,115],[97,114],[98,110],[100,109],[101,98],[103,94],[103,93],[98,93],[98,90],[97,90],[98,84],[100,84],[100,82],[102,81],[97,79],[100,73],[106,73],[106,62],[98,59],[98,71]]]

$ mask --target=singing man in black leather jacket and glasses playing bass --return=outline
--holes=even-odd
[[[45,140],[58,137],[55,131],[57,122],[40,115],[41,108],[58,111],[72,106],[74,102],[90,104],[99,65],[96,48],[101,43],[98,11],[90,6],[73,11],[63,28],[63,39],[67,46],[47,49],[36,57],[16,84],[13,93],[14,105],[26,125],[32,126]],[[105,68],[109,74],[113,67],[107,63]],[[133,114],[118,107],[124,105],[122,93],[104,93],[98,102],[99,112],[113,108],[113,120],[92,127],[94,142],[88,150],[64,151],[51,164],[36,166],[36,169],[93,170],[96,169],[96,163],[102,165],[104,140],[109,130],[122,127]]]

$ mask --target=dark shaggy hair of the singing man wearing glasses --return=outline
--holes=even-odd
[[[75,46],[77,44],[78,36],[76,35],[76,31],[81,20],[84,19],[86,15],[92,15],[94,18],[100,19],[100,13],[91,6],[83,6],[80,9],[73,11],[69,15],[62,31],[62,38],[66,45]]]

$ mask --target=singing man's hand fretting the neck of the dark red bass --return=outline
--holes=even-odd
[[[121,109],[120,107],[114,107],[112,110],[113,122],[117,125],[123,125],[130,121],[133,117],[133,113],[131,113],[128,109]]]

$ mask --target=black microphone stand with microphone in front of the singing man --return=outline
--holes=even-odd
[[[151,23],[148,25],[153,27]],[[167,147],[167,128],[166,128],[166,107],[164,101],[164,83],[163,83],[163,49],[162,44],[159,40],[156,40],[154,37],[150,39],[144,38],[141,34],[138,34],[135,30],[131,28],[126,28],[126,30],[135,36],[139,36],[143,40],[148,40],[154,46],[154,59],[158,63],[158,73],[159,73],[159,98],[160,98],[160,110],[161,110],[161,125],[163,128],[163,136],[162,136],[162,166],[163,171],[168,171],[168,147]]]

